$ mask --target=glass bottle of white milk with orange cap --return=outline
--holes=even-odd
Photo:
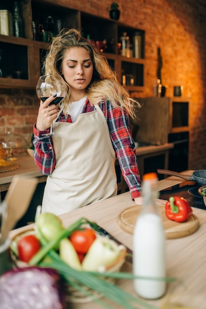
[[[148,173],[142,178],[143,205],[134,231],[133,272],[141,277],[166,276],[165,232],[156,205],[157,174]],[[135,291],[145,299],[158,299],[166,292],[164,280],[137,278]]]

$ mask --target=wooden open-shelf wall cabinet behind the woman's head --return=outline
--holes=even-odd
[[[144,31],[120,24],[109,18],[101,18],[81,10],[63,6],[55,0],[19,0],[20,15],[23,19],[24,38],[0,35],[2,62],[9,64],[0,77],[0,87],[34,89],[38,77],[43,74],[42,62],[46,55],[49,42],[40,41],[39,25],[47,27],[47,18],[52,16],[53,33],[60,28],[82,29],[85,38],[94,42],[106,40],[103,54],[108,63],[117,73],[118,80],[129,91],[142,91],[144,87]],[[0,10],[13,13],[13,1],[0,3]],[[33,24],[35,23],[35,27]],[[120,38],[123,33],[133,37],[136,32],[141,36],[141,58],[119,54]],[[125,82],[126,80],[126,82]]]

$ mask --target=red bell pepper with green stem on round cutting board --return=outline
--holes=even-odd
[[[165,213],[168,219],[172,221],[184,222],[192,214],[192,208],[185,198],[171,196],[165,205]]]

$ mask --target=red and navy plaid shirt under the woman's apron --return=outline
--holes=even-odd
[[[119,160],[122,175],[130,189],[132,199],[141,195],[141,180],[137,168],[137,157],[129,116],[120,109],[115,109],[109,102],[101,103],[100,109],[105,116],[111,143]],[[89,113],[95,107],[86,100],[82,113]],[[60,114],[57,121],[72,122],[71,117]],[[51,136],[42,136],[49,130],[38,131],[34,124],[34,160],[44,175],[50,175],[55,168],[56,158]]]

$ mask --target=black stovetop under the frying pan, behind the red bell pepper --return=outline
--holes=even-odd
[[[182,196],[189,202],[191,207],[206,210],[203,196],[198,192],[200,187],[195,182],[184,181],[181,184],[160,191],[160,198],[169,200],[170,196],[173,195]]]

